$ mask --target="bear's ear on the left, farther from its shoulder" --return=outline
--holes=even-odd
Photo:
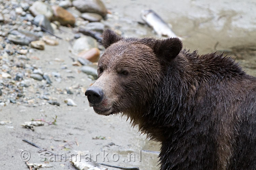
[[[105,48],[108,48],[111,44],[114,44],[117,41],[122,39],[122,37],[120,37],[110,29],[104,30],[104,32],[102,33],[102,37],[103,37],[102,44]]]

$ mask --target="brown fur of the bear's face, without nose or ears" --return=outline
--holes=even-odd
[[[150,80],[156,79],[150,77],[160,71],[157,65],[157,57],[146,45],[123,40],[112,44],[98,62],[99,79],[93,84],[102,89],[103,99],[90,106],[101,115],[130,112],[153,88]]]

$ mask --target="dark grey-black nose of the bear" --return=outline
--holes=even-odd
[[[90,103],[96,104],[101,102],[103,99],[103,91],[99,87],[91,86],[85,91],[85,96],[87,96],[87,99]]]

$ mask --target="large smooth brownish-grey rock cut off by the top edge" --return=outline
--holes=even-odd
[[[80,12],[96,13],[103,17],[107,14],[107,9],[100,0],[74,0],[72,4]]]

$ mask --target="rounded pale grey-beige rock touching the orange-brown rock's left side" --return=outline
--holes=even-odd
[[[41,2],[41,1],[36,1],[33,3],[32,6],[29,7],[29,11],[33,16],[37,16],[40,14],[45,15],[49,20],[53,17],[53,11],[51,6]]]

